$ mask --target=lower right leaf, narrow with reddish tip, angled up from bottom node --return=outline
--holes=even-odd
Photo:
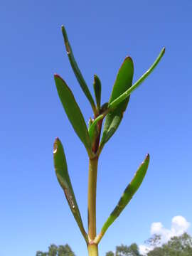
[[[134,196],[134,193],[136,193],[137,189],[142,184],[142,181],[144,179],[148,166],[149,166],[149,154],[147,154],[146,159],[144,159],[144,162],[141,164],[141,166],[139,166],[139,169],[137,170],[136,174],[134,174],[134,178],[129,183],[127,188],[125,188],[124,193],[119,200],[119,203],[110,214],[110,217],[107,219],[106,223],[103,225],[101,233],[98,236],[98,240],[102,238],[106,230],[110,227],[110,225],[112,225],[114,220],[116,220],[119,214],[122,213],[122,210],[124,210],[125,206],[127,206],[129,201],[132,199],[132,197]]]

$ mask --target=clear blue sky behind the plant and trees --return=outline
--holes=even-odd
[[[183,215],[192,222],[191,9],[190,0],[1,1],[1,256],[34,256],[66,242],[76,255],[87,254],[53,169],[53,141],[60,137],[87,227],[87,154],[53,74],[68,82],[86,120],[92,112],[65,54],[61,24],[91,91],[93,75],[100,76],[102,102],[126,55],[134,60],[136,81],[166,46],[100,158],[97,231],[151,154],[144,183],[107,231],[100,255],[120,243],[143,242],[155,221],[169,227],[173,216]]]

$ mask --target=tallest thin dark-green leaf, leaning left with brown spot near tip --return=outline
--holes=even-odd
[[[70,60],[70,65],[73,68],[73,72],[74,72],[74,74],[75,74],[75,76],[76,76],[76,78],[77,78],[77,80],[80,84],[80,87],[81,87],[82,91],[85,93],[85,95],[87,97],[87,100],[89,100],[90,105],[92,106],[92,110],[95,113],[95,109],[96,109],[95,102],[92,98],[92,95],[90,93],[89,88],[87,87],[87,84],[86,84],[84,78],[82,77],[82,73],[80,72],[78,64],[76,63],[76,60],[75,60],[74,55],[73,55],[73,50],[70,47],[70,43],[68,41],[68,35],[67,35],[67,32],[65,31],[65,27],[61,26],[61,29],[62,29],[63,38],[64,38],[64,42],[65,42],[65,48],[67,50],[68,58]]]

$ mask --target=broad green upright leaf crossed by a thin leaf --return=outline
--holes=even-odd
[[[122,93],[125,92],[129,87],[132,86],[133,73],[134,65],[132,59],[127,57],[122,63],[122,66],[117,74],[109,105],[111,102],[117,99],[117,97],[122,95]],[[107,114],[103,128],[101,145],[104,145],[119,127],[119,124],[122,121],[123,112],[126,110],[128,102],[129,97],[121,102],[113,112]]]

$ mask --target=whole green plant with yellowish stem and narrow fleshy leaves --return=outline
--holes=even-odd
[[[70,182],[70,176],[68,174],[68,166],[65,159],[63,145],[61,144],[60,139],[58,138],[55,139],[53,149],[55,173],[61,188],[63,188],[65,198],[67,199],[68,205],[70,206],[70,210],[73,213],[73,216],[78,224],[78,227],[80,228],[80,232],[82,233],[82,236],[85,239],[85,242],[87,244],[88,255],[97,256],[98,244],[102,239],[103,235],[105,235],[105,232],[110,227],[110,225],[112,225],[114,220],[116,220],[119,214],[122,213],[122,210],[124,210],[125,206],[127,206],[129,201],[132,199],[132,196],[134,196],[134,193],[141,185],[149,165],[149,154],[146,155],[146,158],[144,159],[143,163],[137,169],[136,174],[134,174],[134,178],[132,178],[132,181],[129,183],[127,188],[125,188],[122,197],[119,199],[119,202],[117,203],[117,206],[114,208],[109,218],[107,218],[107,220],[105,221],[100,233],[97,234],[96,188],[98,159],[100,157],[103,147],[112,137],[114,132],[117,131],[117,128],[119,127],[119,124],[122,121],[124,111],[126,110],[127,105],[129,103],[130,94],[135,89],[137,89],[137,87],[139,87],[139,85],[141,85],[142,82],[144,82],[144,80],[148,77],[148,75],[154,70],[154,68],[164,55],[165,48],[161,50],[161,53],[156,58],[153,65],[151,65],[149,70],[147,70],[146,73],[144,73],[144,75],[142,75],[142,77],[139,78],[139,80],[137,80],[137,82],[134,82],[134,84],[132,84],[134,74],[134,65],[132,58],[125,58],[121,67],[119,68],[119,72],[117,73],[117,78],[114,82],[109,102],[101,105],[102,86],[100,78],[98,78],[97,75],[94,76],[94,100],[84,78],[82,77],[82,73],[78,68],[78,64],[75,61],[73,50],[68,41],[68,36],[64,26],[62,26],[62,32],[65,48],[68,53],[70,64],[73,68],[73,72],[75,73],[75,76],[80,84],[80,87],[82,88],[82,91],[85,93],[87,100],[90,102],[93,111],[93,118],[89,120],[89,124],[87,126],[85,119],[82,115],[82,112],[80,110],[80,107],[78,106],[78,103],[75,101],[73,92],[71,92],[66,82],[62,78],[60,78],[59,75],[54,76],[55,85],[58,91],[58,96],[60,97],[60,101],[63,105],[63,108],[68,116],[70,123],[73,126],[73,129],[80,138],[82,144],[84,144],[89,158],[87,232],[85,231],[84,225],[82,223],[78,203],[75,199],[72,183]],[[105,122],[102,131],[102,123],[104,119]]]

